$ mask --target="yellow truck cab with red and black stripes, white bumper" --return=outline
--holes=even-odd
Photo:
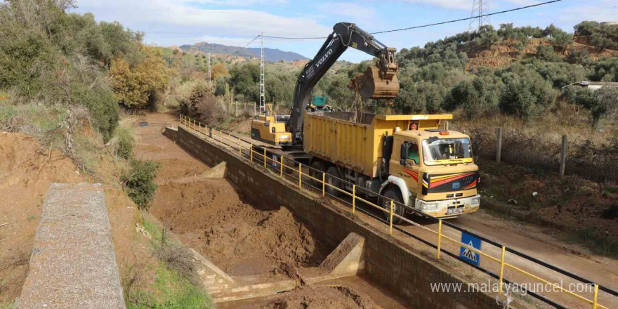
[[[478,210],[479,173],[468,136],[412,125],[412,130],[395,132],[391,139],[389,180],[404,181],[404,204],[437,218]]]

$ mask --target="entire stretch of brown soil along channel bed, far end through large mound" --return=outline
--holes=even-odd
[[[176,118],[148,114],[138,121],[169,124]],[[289,209],[258,209],[242,202],[224,178],[205,178],[208,167],[163,136],[161,126],[135,131],[136,157],[162,164],[150,212],[228,275],[294,276],[329,253]]]

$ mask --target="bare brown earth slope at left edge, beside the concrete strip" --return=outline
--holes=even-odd
[[[19,296],[39,207],[50,183],[80,183],[77,168],[59,150],[41,147],[23,133],[0,133],[0,304]]]

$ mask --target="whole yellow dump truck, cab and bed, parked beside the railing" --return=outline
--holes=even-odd
[[[307,113],[303,148],[314,173],[326,172],[330,185],[350,191],[356,185],[369,197],[379,193],[386,209],[394,199],[405,205],[395,206],[400,216],[420,211],[454,218],[478,210],[479,174],[470,138],[448,131],[449,119],[451,114]]]

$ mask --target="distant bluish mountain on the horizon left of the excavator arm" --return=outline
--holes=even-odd
[[[240,47],[237,46],[227,46],[223,44],[214,44],[214,43],[197,43],[194,45],[183,45],[180,46],[180,49],[183,51],[201,51],[202,53],[234,53],[239,50]],[[246,58],[259,58],[260,57],[260,48],[244,48],[242,51],[239,51],[235,55],[239,55],[241,57]],[[292,53],[291,51],[281,51],[279,49],[272,48],[264,48],[264,58],[266,61],[277,62],[280,60],[284,61],[295,61],[295,60],[308,60],[303,55],[299,55],[298,53]]]

